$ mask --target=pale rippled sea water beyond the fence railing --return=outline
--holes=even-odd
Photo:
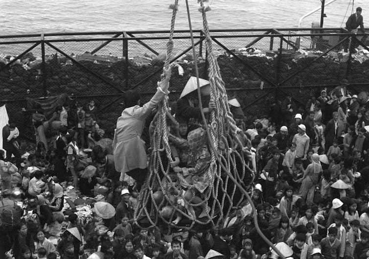
[[[328,1],[328,0],[326,0]],[[355,0],[368,24],[368,0]],[[162,30],[169,29],[174,0],[0,0],[0,35],[46,32]],[[188,29],[185,0],[176,29]],[[351,4],[350,4],[351,3]],[[305,13],[319,7],[320,0],[209,0],[210,29],[297,27]],[[189,0],[194,29],[202,28],[197,0]],[[345,26],[352,0],[337,0],[325,7],[324,26]],[[346,16],[345,16],[346,14]],[[307,17],[302,27],[320,21],[320,11]]]

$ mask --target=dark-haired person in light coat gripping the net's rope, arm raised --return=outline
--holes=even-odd
[[[168,94],[171,70],[163,69],[164,78],[151,100],[139,106],[140,95],[137,90],[129,90],[124,94],[126,108],[116,121],[113,140],[115,170],[127,173],[137,181],[138,191],[141,188],[147,171],[147,155],[144,141],[141,138],[145,119],[152,110]]]

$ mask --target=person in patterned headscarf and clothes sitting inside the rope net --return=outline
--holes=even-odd
[[[186,167],[175,166],[173,170],[182,173],[191,188],[185,192],[185,200],[192,204],[200,204],[202,212],[198,217],[207,216],[208,205],[203,201],[201,195],[209,186],[211,175],[208,172],[210,165],[210,153],[208,151],[206,132],[202,128],[197,128],[188,133],[187,137],[189,152]],[[195,207],[195,208],[196,208]],[[195,209],[194,208],[194,209]]]

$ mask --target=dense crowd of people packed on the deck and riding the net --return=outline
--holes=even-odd
[[[203,79],[202,99],[191,77],[173,114],[167,114],[171,160],[164,163],[170,164],[170,180],[159,175],[161,187],[151,189],[152,203],[160,208],[148,209],[173,218],[173,229],[179,227],[167,233],[135,224],[152,152],[146,135],[157,130],[155,111],[168,94],[170,73],[164,70],[156,94],[143,106],[137,91],[125,93],[114,140],[98,140],[99,113],[93,101],[85,109],[82,104],[57,107],[48,120],[41,107],[35,108],[36,146],[27,147],[25,154],[19,151],[17,122],[9,119],[3,128],[6,156],[0,151],[0,222],[9,220],[5,212],[19,214],[20,220],[14,223],[13,216],[9,224],[0,224],[0,258],[278,259],[258,234],[246,199],[232,208],[218,230],[179,229],[184,224],[181,213],[173,218],[173,204],[186,212],[191,210],[186,204],[200,203],[192,208],[196,217],[209,217],[203,193],[211,185],[210,147],[202,114],[209,118],[217,108]],[[261,232],[286,258],[369,257],[367,103],[350,93],[344,81],[311,96],[305,107],[292,96],[276,99],[270,114],[250,127],[236,98],[229,99],[229,106],[247,149],[250,171],[244,184],[251,186]],[[220,141],[218,151],[224,146]],[[164,197],[161,188],[170,195]],[[91,213],[79,213],[86,206]],[[57,235],[51,231],[55,224],[64,226]]]

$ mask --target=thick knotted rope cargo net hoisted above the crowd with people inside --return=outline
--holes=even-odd
[[[247,170],[250,170],[244,159],[244,152],[247,151],[239,137],[242,133],[236,127],[228,106],[225,85],[212,48],[206,19],[206,12],[210,8],[206,7],[202,0],[200,4],[199,11],[203,16],[208,51],[210,99],[216,105],[216,109],[211,112],[205,136],[211,160],[203,175],[192,176],[190,181],[187,181],[188,177],[183,173],[177,173],[176,183],[172,181],[173,177],[169,177],[172,170],[170,162],[173,160],[166,122],[168,99],[165,98],[158,107],[154,121],[156,128],[150,139],[152,153],[149,172],[141,188],[134,214],[138,226],[153,225],[161,230],[166,229],[168,234],[172,229],[221,229],[223,220],[244,200],[244,194],[236,190],[237,187],[229,174],[246,187],[245,175]],[[169,57],[173,49],[172,38],[178,0],[169,8],[173,9],[173,14],[164,68],[170,66]],[[222,143],[222,149],[219,143]],[[195,181],[202,181],[201,190],[194,186]]]

